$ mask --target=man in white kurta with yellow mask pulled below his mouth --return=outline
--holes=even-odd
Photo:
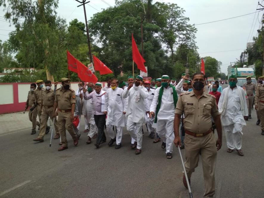
[[[112,146],[116,141],[115,149],[121,148],[122,132],[125,126],[127,100],[122,98],[122,93],[123,89],[118,87],[117,80],[112,79],[111,88],[107,89],[105,96],[105,113],[107,114],[106,129],[111,138],[108,146]],[[116,133],[113,126],[116,126]]]

